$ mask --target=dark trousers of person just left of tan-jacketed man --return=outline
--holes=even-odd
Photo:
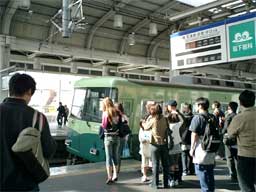
[[[229,175],[231,176],[231,179],[237,178],[237,149],[231,148],[228,145],[225,145],[225,153],[226,153],[226,159],[227,159],[227,166],[229,170]]]

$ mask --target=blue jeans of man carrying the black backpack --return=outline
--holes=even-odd
[[[214,165],[195,164],[195,171],[200,180],[201,192],[213,192],[214,184]]]

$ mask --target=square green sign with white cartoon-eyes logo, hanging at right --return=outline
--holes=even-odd
[[[230,58],[256,56],[255,22],[229,26]]]

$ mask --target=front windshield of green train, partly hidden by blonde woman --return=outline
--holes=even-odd
[[[113,88],[87,88],[82,119],[101,122],[102,101],[105,97],[110,97],[113,102],[117,101],[117,90]]]

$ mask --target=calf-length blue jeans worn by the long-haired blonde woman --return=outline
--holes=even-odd
[[[119,136],[107,136],[104,138],[105,153],[106,153],[106,166],[118,165],[119,163]]]

